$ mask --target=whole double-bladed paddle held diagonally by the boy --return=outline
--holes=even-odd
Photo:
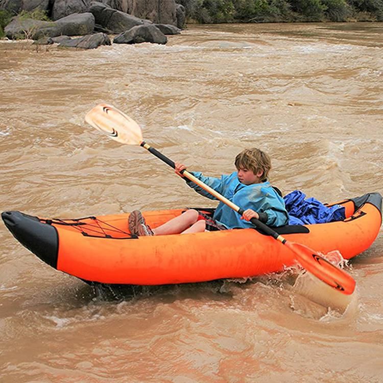
[[[115,107],[107,104],[99,104],[86,114],[85,121],[93,128],[100,130],[117,142],[126,145],[139,145],[147,149],[150,153],[154,154],[160,160],[175,169],[175,164],[170,158],[167,158],[158,150],[152,148],[143,141],[142,131],[139,125],[131,117]],[[193,176],[193,174],[190,174],[186,170],[183,171],[182,174],[190,181],[193,181],[198,186],[202,187],[206,192],[235,210],[238,214],[241,214],[241,216],[244,213],[244,209],[217,193],[216,190],[200,181]],[[287,241],[282,235],[278,234],[275,230],[259,220],[252,218],[250,221],[258,229],[271,235],[275,240],[288,247],[294,253],[296,260],[304,269],[343,294],[349,295],[353,293],[355,289],[355,280],[344,270],[331,264],[328,260],[309,247]]]

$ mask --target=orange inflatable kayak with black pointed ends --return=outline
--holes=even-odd
[[[275,228],[288,241],[352,258],[368,249],[381,225],[381,196],[369,193],[337,202],[344,221]],[[334,205],[334,204],[333,204]],[[205,212],[209,209],[201,209]],[[185,210],[143,212],[156,227]],[[283,270],[294,254],[255,228],[137,237],[129,213],[80,219],[44,219],[19,211],[2,218],[14,237],[46,264],[86,282],[170,284],[251,277]]]

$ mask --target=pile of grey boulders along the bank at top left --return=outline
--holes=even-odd
[[[47,12],[49,7],[53,21],[21,13],[5,27],[6,37],[79,49],[110,45],[108,35],[116,35],[116,44],[166,44],[166,35],[179,34],[185,23],[185,9],[174,0],[0,0],[0,9],[14,13],[36,9]]]

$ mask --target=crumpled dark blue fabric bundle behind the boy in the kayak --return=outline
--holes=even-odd
[[[345,208],[341,205],[327,207],[315,198],[307,198],[300,190],[294,190],[284,196],[289,211],[289,225],[304,225],[343,221]]]

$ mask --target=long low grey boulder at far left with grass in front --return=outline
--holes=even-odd
[[[94,17],[91,13],[75,13],[57,21],[41,21],[14,17],[4,32],[10,39],[56,37],[60,35],[86,35],[93,32]]]

